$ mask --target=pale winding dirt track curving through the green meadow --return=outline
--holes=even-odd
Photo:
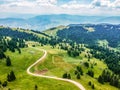
[[[32,65],[30,65],[28,68],[27,68],[27,73],[29,75],[32,75],[32,76],[37,76],[37,77],[43,77],[43,78],[51,78],[51,79],[56,79],[56,80],[61,80],[61,81],[66,81],[66,82],[70,82],[70,83],[73,83],[74,85],[76,85],[80,90],[85,90],[85,88],[78,82],[76,81],[73,81],[73,80],[70,80],[70,79],[63,79],[63,78],[58,78],[58,77],[53,77],[53,76],[45,76],[45,75],[41,75],[41,74],[35,74],[35,73],[32,73],[30,72],[30,69],[35,66],[37,63],[39,63],[40,61],[42,61],[46,55],[47,55],[47,51],[44,50],[44,49],[39,49],[40,51],[43,51],[44,52],[44,55],[39,59],[37,60],[35,63],[33,63]]]

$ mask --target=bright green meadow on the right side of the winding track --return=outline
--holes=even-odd
[[[50,46],[44,46],[40,48],[44,48],[48,51],[47,58],[44,60],[44,62],[37,66],[37,70],[39,71],[44,69],[47,70],[45,75],[62,77],[63,73],[68,72],[71,74],[72,79],[80,82],[86,88],[86,90],[92,90],[92,88],[88,85],[89,81],[94,83],[95,90],[118,90],[117,88],[110,86],[108,83],[104,85],[98,83],[98,76],[102,73],[103,69],[107,68],[103,61],[100,61],[96,58],[91,58],[89,61],[90,65],[97,63],[97,65],[93,68],[95,75],[94,78],[92,78],[86,74],[88,69],[91,69],[91,67],[86,68],[84,66],[83,63],[87,61],[87,58],[84,57],[84,53],[80,55],[81,58],[72,58],[69,57],[64,50],[57,48],[53,49]],[[84,75],[81,76],[80,80],[77,80],[76,76],[74,75],[74,70],[77,65],[80,65],[84,71]]]

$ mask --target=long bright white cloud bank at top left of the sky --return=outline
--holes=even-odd
[[[54,6],[57,0],[6,0],[1,6],[33,7],[33,6]]]

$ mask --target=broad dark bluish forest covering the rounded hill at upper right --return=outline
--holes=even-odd
[[[87,29],[86,29],[87,28]],[[93,31],[90,31],[90,29]],[[107,40],[109,46],[117,47],[120,40],[120,26],[109,24],[98,25],[70,25],[57,32],[57,36],[62,39],[70,39],[77,43],[94,45],[97,40]]]

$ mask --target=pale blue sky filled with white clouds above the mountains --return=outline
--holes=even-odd
[[[120,16],[120,0],[0,0],[0,12]]]

